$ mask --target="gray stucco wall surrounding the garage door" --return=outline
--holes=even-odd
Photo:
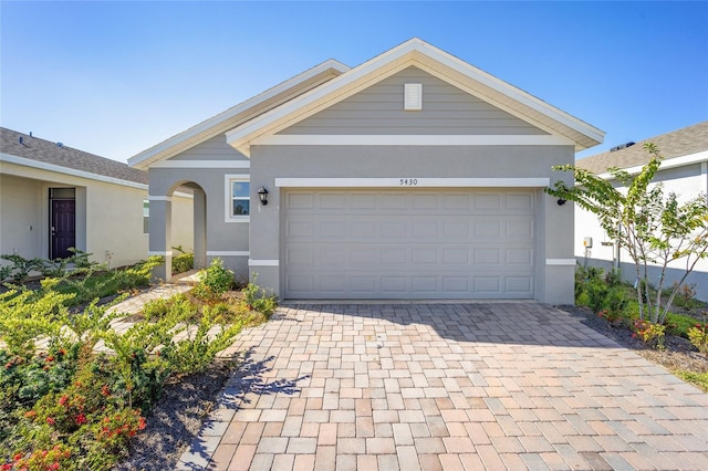
[[[568,178],[553,165],[573,161],[572,146],[253,146],[251,188],[270,191],[267,207],[253,205],[250,223],[251,273],[281,293],[281,189],[275,178]],[[571,184],[571,181],[566,181]],[[546,259],[573,259],[573,207],[538,188],[537,300],[573,303],[573,265]],[[260,261],[260,262],[259,262]],[[259,264],[260,263],[260,264]]]

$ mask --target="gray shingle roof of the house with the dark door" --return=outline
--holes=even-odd
[[[138,184],[140,188],[147,186],[147,172],[143,170],[4,127],[0,127],[0,161],[55,171],[65,169],[66,174],[100,176],[105,177],[100,178],[104,180],[121,180],[114,181],[116,184]]]

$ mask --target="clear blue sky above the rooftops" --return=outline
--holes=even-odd
[[[327,59],[418,36],[605,130],[708,119],[708,2],[0,1],[0,125],[126,161]]]

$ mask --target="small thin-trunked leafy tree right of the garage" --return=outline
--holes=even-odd
[[[611,179],[563,165],[553,169],[572,171],[575,187],[568,188],[563,181],[556,181],[554,188],[546,188],[545,192],[574,201],[597,217],[607,236],[625,249],[634,262],[639,318],[663,324],[688,274],[700,259],[708,258],[708,201],[706,195],[700,195],[681,205],[676,193],[664,195],[662,184],[650,186],[663,157],[652,143],[645,144],[644,149],[649,154],[649,161],[638,175],[607,169],[626,191],[615,188]],[[666,269],[677,260],[685,262],[684,274],[662,307]],[[652,266],[659,269],[656,293],[652,293],[649,283]]]

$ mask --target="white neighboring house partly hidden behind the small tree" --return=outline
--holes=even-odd
[[[613,150],[580,159],[575,165],[603,178],[611,178],[607,174],[611,167],[637,174],[649,160],[649,154],[644,150],[645,143],[654,143],[665,158],[654,177],[654,181],[664,185],[665,193],[675,192],[683,201],[708,195],[708,122],[636,144],[628,143],[632,144],[629,146],[617,146]],[[592,238],[592,247],[584,247],[585,238]],[[618,268],[625,280],[636,279],[629,257],[622,251],[617,252],[615,241],[607,237],[595,216],[580,208],[575,209],[575,255],[580,263],[605,270]],[[685,266],[685,260],[669,264],[667,286],[683,276]],[[658,280],[658,270],[654,270],[650,279]],[[697,297],[708,300],[708,259],[698,262],[686,283],[696,285]]]

